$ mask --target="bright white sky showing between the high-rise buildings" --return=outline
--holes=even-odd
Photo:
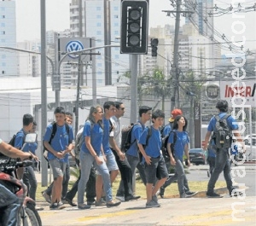
[[[33,40],[40,38],[40,0],[15,0],[16,2],[16,20],[17,20],[17,42],[24,40]],[[234,3],[235,2],[235,3]],[[241,4],[253,6],[255,1],[244,0]],[[69,28],[69,3],[70,0],[45,0],[46,7],[46,30],[63,31]],[[237,5],[235,0],[214,0],[218,7],[228,8],[230,3]],[[149,0],[149,27],[165,26],[166,24],[175,24],[175,18],[166,16],[162,10],[173,10],[170,0]],[[223,15],[215,18],[215,29],[219,33],[225,34],[231,40],[242,40],[245,36],[245,48],[256,49],[256,11],[247,14],[241,14],[244,18],[236,19],[232,14]],[[234,24],[239,20],[244,25],[244,32],[236,34]],[[181,24],[184,23],[182,17]],[[233,29],[232,29],[233,27]],[[235,26],[241,30],[241,25]]]

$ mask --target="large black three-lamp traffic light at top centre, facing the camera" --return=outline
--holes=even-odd
[[[121,0],[121,54],[148,53],[148,0]]]

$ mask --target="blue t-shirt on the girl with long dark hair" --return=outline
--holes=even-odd
[[[174,155],[176,158],[183,161],[183,153],[185,146],[189,144],[189,135],[186,131],[176,131],[177,139],[174,145]],[[172,132],[169,136],[168,143],[173,143],[174,133]]]

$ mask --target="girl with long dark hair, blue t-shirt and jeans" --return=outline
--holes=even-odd
[[[177,173],[177,187],[180,198],[189,198],[195,194],[193,192],[191,192],[191,194],[186,194],[185,190],[185,188],[189,189],[189,184],[183,167],[183,154],[186,155],[186,158],[188,159],[188,166],[190,166],[189,135],[186,131],[187,125],[187,119],[183,115],[177,115],[172,127],[172,130],[175,130],[177,134],[177,139],[173,147],[174,150],[171,149],[171,144],[174,140],[174,133],[170,134],[167,143],[167,150],[170,155],[170,161],[171,164],[175,166],[175,171]]]

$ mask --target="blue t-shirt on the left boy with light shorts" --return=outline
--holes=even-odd
[[[56,125],[56,126],[57,128],[56,128],[55,136],[52,138],[50,145],[56,152],[65,151],[67,146],[73,141],[73,128],[70,125],[68,125],[69,133],[67,134],[66,125],[61,125],[61,126]],[[53,130],[53,125],[52,124],[48,125],[46,128],[46,132],[44,134],[44,141],[49,142],[52,130]],[[47,157],[49,160],[57,158],[51,152],[48,152]],[[67,162],[67,157],[65,156],[63,159],[60,159],[60,160]]]

